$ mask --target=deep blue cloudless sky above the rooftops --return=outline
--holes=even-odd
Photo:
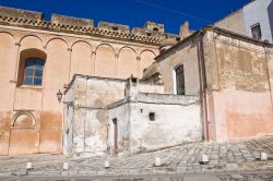
[[[250,0],[0,0],[0,5],[86,17],[141,27],[145,21],[163,23],[166,32],[177,34],[182,22],[192,29],[224,17]]]

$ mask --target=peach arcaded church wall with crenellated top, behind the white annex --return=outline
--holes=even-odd
[[[45,21],[40,12],[0,7],[0,155],[61,153],[63,105],[56,93],[74,74],[142,77],[165,33],[126,27],[107,22],[94,27],[92,20],[58,14]],[[24,61],[33,57],[45,61],[41,86],[22,85]],[[22,113],[35,126],[12,128]],[[17,149],[20,145],[25,147]]]

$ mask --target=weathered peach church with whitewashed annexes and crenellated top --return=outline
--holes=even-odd
[[[273,45],[0,7],[0,155],[128,155],[273,133]]]

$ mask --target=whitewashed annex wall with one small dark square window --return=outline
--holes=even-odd
[[[131,102],[130,152],[143,152],[202,140],[200,105]],[[149,113],[155,112],[155,121]]]

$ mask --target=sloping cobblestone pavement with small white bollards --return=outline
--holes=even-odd
[[[269,159],[266,161],[260,160],[261,152],[268,153]],[[200,157],[203,154],[209,156],[207,165],[200,164]],[[154,166],[156,157],[162,159],[161,167]],[[105,160],[109,160],[110,168],[104,168]],[[26,171],[27,161],[33,162],[34,169]],[[69,170],[62,170],[62,165],[66,161],[70,166]],[[188,143],[129,157],[66,158],[62,155],[34,155],[0,157],[0,177],[2,179],[9,178],[9,180],[11,177],[14,179],[16,177],[21,179],[62,177],[61,180],[68,177],[75,177],[75,180],[81,179],[81,177],[82,179],[84,177],[104,177],[103,180],[107,180],[106,176],[115,180],[112,176],[130,176],[131,178],[117,178],[116,180],[136,181],[153,180],[144,176],[155,177],[154,179],[158,180],[157,176],[167,174],[168,178],[165,179],[180,181],[187,180],[188,174],[210,174],[207,177],[218,180],[273,181],[273,136],[226,143]],[[171,174],[179,176],[171,178]],[[135,179],[132,176],[135,176]],[[138,179],[136,176],[140,178]],[[201,178],[204,179],[204,177]]]

